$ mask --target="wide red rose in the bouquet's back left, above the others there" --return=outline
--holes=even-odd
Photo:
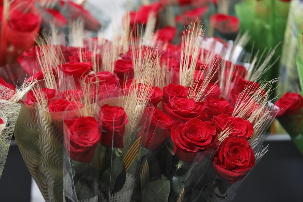
[[[89,73],[93,68],[92,62],[67,62],[61,65],[62,71],[74,78],[81,78]]]

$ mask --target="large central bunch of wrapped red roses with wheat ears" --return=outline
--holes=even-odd
[[[235,47],[201,38],[196,25],[175,46],[149,33],[152,18],[144,35],[130,19],[112,41],[81,38],[75,26],[72,46],[45,38],[32,49],[38,65],[14,134],[43,197],[230,198],[267,151],[274,81],[256,83],[267,64],[232,63]]]

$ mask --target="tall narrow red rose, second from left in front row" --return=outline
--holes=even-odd
[[[102,144],[105,147],[124,148],[123,136],[125,125],[128,124],[127,115],[122,107],[105,104],[101,107]]]

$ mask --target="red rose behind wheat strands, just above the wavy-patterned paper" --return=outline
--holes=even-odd
[[[39,97],[44,96],[44,98],[47,101],[50,101],[52,98],[55,98],[56,90],[50,89],[50,88],[41,88],[39,90],[30,90],[26,94],[26,100],[23,100],[22,102],[26,105],[35,104],[35,102],[37,102],[36,94],[38,94]]]

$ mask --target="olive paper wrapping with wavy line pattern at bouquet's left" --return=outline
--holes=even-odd
[[[62,122],[53,120],[38,105],[22,105],[14,134],[45,201],[62,201]]]

